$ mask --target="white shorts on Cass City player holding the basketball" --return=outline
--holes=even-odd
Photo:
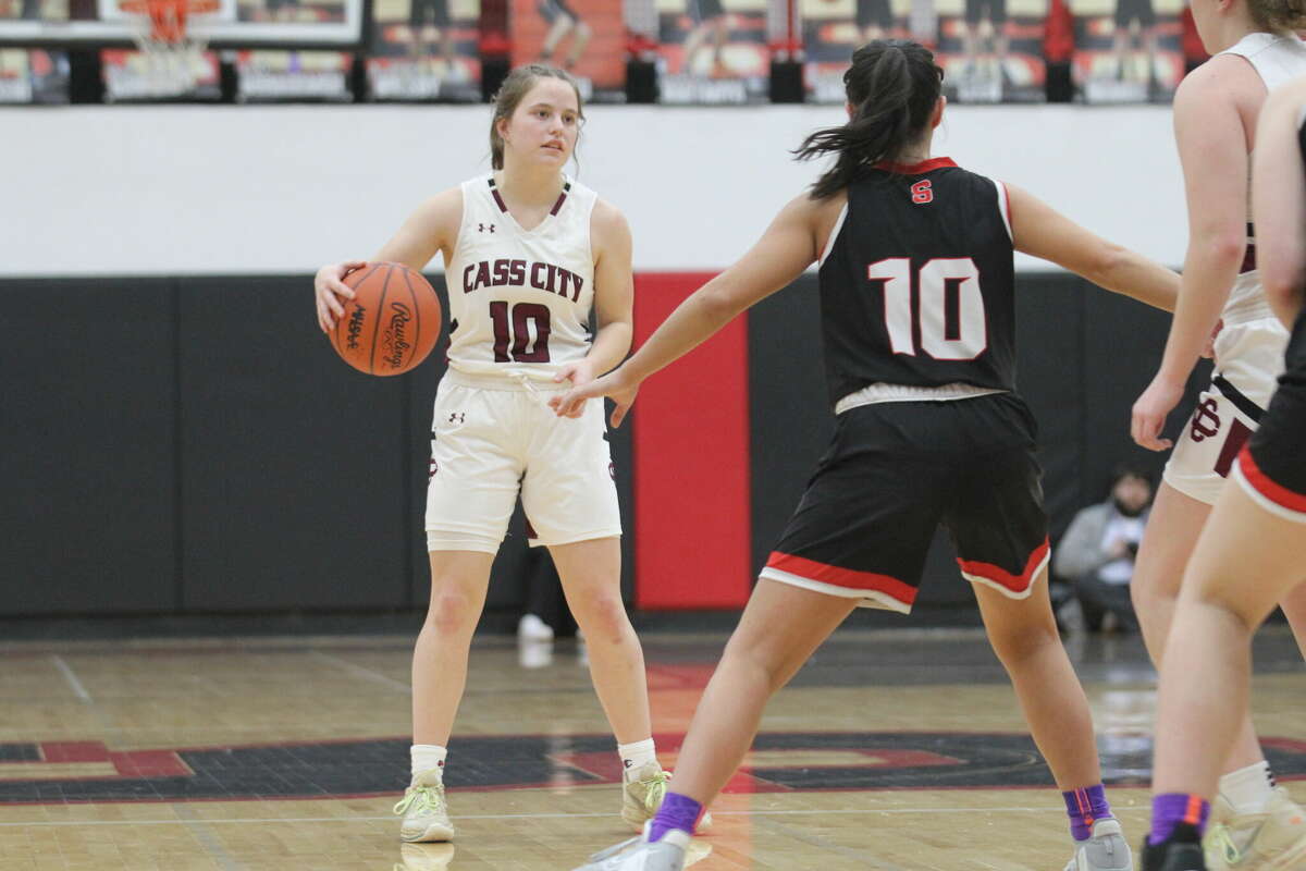
[[[427,550],[495,554],[521,494],[530,545],[622,534],[603,402],[559,418],[564,387],[449,371],[431,424]]]

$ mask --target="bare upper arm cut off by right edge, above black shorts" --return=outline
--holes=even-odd
[[[1256,269],[1266,299],[1288,329],[1306,303],[1306,172],[1298,142],[1303,107],[1306,77],[1266,99],[1251,174]]]

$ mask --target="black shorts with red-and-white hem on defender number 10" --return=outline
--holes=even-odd
[[[1036,443],[1011,393],[850,409],[761,577],[906,614],[942,524],[963,577],[1025,598],[1049,554]]]

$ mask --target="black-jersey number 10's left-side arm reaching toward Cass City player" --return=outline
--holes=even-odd
[[[682,302],[631,359],[603,377],[550,400],[550,405],[558,414],[567,414],[579,402],[607,396],[616,404],[613,426],[620,426],[644,379],[692,351],[739,312],[789,285],[816,260],[816,226],[825,208],[828,201],[812,200],[806,193],[790,201],[748,253]]]

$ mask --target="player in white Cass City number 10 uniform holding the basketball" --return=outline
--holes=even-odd
[[[413,781],[405,841],[448,841],[445,746],[490,565],[520,492],[530,545],[547,546],[585,633],[590,674],[626,772],[622,816],[639,828],[666,791],[649,723],[644,654],[620,592],[622,524],[603,407],[569,418],[550,396],[616,366],[631,346],[626,218],[569,180],[582,115],[575,81],[528,65],[504,81],[490,128],[494,172],[421,205],[376,260],[421,270],[440,252],[449,289],[449,371],[432,424],[426,530],[431,605],[413,657]],[[340,317],[341,278],[323,266],[320,326]],[[590,309],[599,328],[589,336]]]

